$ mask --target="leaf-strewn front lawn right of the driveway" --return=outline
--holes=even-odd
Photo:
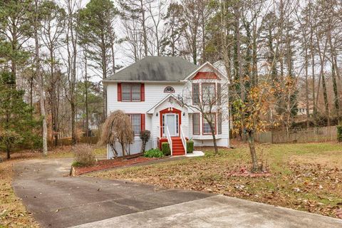
[[[271,176],[229,175],[250,167],[249,150],[243,144],[219,150],[219,155],[206,149],[204,157],[90,175],[218,193],[336,217],[336,210],[342,208],[341,144],[257,145],[257,151]]]

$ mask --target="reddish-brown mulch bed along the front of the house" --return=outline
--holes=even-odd
[[[118,157],[115,159],[111,160],[99,160],[96,162],[96,165],[93,166],[88,166],[88,167],[75,167],[75,174],[76,175],[82,175],[87,172],[93,172],[93,171],[98,171],[98,170],[105,170],[113,167],[122,167],[126,165],[133,165],[133,164],[138,164],[142,162],[148,162],[151,160],[157,160],[158,158],[156,157]]]

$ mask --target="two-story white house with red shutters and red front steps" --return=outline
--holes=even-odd
[[[107,88],[108,113],[123,110],[131,118],[135,140],[130,145],[130,154],[140,152],[141,130],[151,132],[147,150],[168,141],[172,145],[172,155],[185,155],[187,139],[194,140],[195,146],[213,145],[209,125],[194,108],[205,100],[204,89],[214,97],[228,93],[228,90],[222,90],[222,85],[228,83],[227,77],[212,64],[196,66],[179,57],[146,57],[106,78],[103,83]],[[197,99],[191,98],[192,95]],[[219,147],[229,147],[229,121],[225,120],[228,100],[222,102],[212,112],[215,136]],[[108,147],[110,157],[113,152]]]

